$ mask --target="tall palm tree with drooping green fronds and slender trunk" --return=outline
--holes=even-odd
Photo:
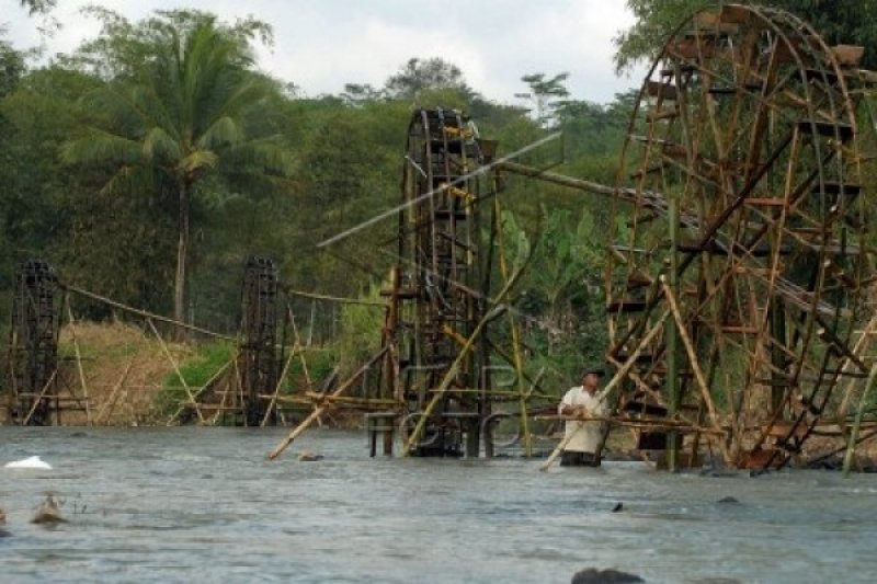
[[[249,37],[212,18],[171,22],[146,45],[141,65],[84,98],[93,116],[62,158],[106,171],[102,194],[175,204],[173,313],[184,319],[190,216],[208,176],[264,188],[292,171],[292,157],[266,125],[280,92],[252,70]],[[241,181],[243,180],[243,181]],[[171,203],[173,201],[173,203]]]

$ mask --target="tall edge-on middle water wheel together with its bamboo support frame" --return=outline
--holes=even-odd
[[[545,396],[524,387],[515,317],[505,312],[520,271],[494,252],[496,146],[456,110],[420,110],[409,125],[380,383],[380,397],[400,404],[387,417],[406,454],[478,456],[483,443],[492,456],[492,428],[509,416],[519,417],[529,451],[527,403]],[[512,382],[498,380],[499,370]],[[494,410],[499,402],[514,404]]]

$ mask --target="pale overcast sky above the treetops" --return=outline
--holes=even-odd
[[[41,16],[19,0],[0,0],[7,39],[18,49],[45,43],[67,53],[93,37],[98,24],[78,14],[84,0],[58,0],[62,24],[42,41]],[[380,87],[409,58],[442,57],[469,85],[500,103],[516,103],[521,76],[569,71],[578,100],[605,103],[639,87],[641,72],[616,77],[612,38],[631,23],[624,0],[102,0],[132,21],[157,9],[194,8],[227,22],[253,15],[274,27],[275,46],[259,65],[304,94],[337,94],[344,83]],[[645,69],[643,69],[645,71]]]

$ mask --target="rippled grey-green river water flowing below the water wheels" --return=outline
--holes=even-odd
[[[877,474],[369,459],[315,430],[0,426],[0,582],[870,582]],[[296,451],[324,456],[298,461]],[[30,523],[45,495],[67,519]],[[732,497],[730,501],[722,501]],[[622,503],[619,512],[612,509]]]

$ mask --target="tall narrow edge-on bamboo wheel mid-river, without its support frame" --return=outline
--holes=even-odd
[[[475,202],[489,186],[474,173],[485,163],[477,137],[475,125],[455,110],[421,110],[408,128],[394,328],[401,364],[396,392],[411,427],[486,310],[478,279],[481,217]],[[483,356],[479,347],[457,363],[448,387],[425,414],[430,419],[414,446],[417,454],[459,454],[464,431],[477,449],[478,422],[490,409],[479,379]],[[457,391],[479,387],[485,392]]]

